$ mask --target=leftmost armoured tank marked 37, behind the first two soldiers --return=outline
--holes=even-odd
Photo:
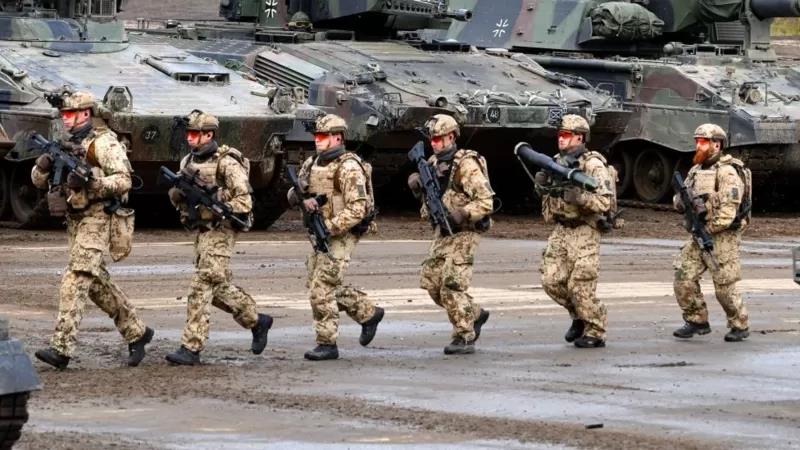
[[[154,197],[166,189],[156,184],[158,168],[177,167],[188,152],[181,118],[200,109],[219,117],[219,141],[251,160],[255,223],[272,223],[285,209],[286,153],[311,141],[294,114],[305,106],[175,47],[131,44],[115,18],[117,1],[0,0],[0,214],[18,225],[46,216],[25,137],[58,137],[59,113],[45,96],[67,87],[100,99],[97,119],[127,146],[142,179],[132,196],[141,212],[166,205],[164,195]]]

